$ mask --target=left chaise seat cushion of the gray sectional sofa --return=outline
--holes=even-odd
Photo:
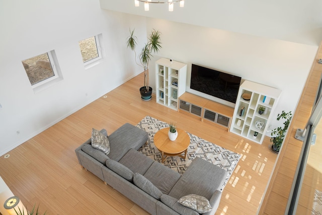
[[[125,123],[108,136],[110,141],[109,158],[119,161],[130,149],[138,150],[147,141],[147,132]]]

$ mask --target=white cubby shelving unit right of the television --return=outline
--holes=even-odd
[[[250,99],[244,99],[243,94],[249,94]],[[230,132],[262,144],[280,95],[281,91],[276,88],[244,81],[239,87]],[[263,114],[259,114],[260,106],[265,107]],[[256,139],[255,131],[258,132]]]

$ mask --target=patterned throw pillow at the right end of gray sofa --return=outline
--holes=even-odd
[[[212,210],[208,199],[200,195],[186,195],[181,197],[178,202],[186,207],[196,210],[198,213],[205,213]]]

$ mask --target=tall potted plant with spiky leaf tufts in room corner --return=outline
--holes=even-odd
[[[161,47],[160,42],[161,33],[156,30],[152,30],[151,34],[147,37],[147,43],[143,46],[141,53],[138,55],[140,64],[136,61],[136,44],[137,37],[134,36],[134,29],[131,31],[130,36],[127,38],[126,45],[135,53],[135,62],[144,69],[144,86],[140,88],[141,98],[144,101],[149,101],[152,98],[152,88],[149,86],[149,62],[152,57],[152,53],[157,53]]]

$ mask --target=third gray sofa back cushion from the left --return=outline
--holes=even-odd
[[[139,173],[134,174],[133,183],[138,188],[140,188],[141,190],[143,190],[144,192],[146,192],[147,194],[149,194],[157,200],[160,200],[163,194],[156,186],[154,186],[149,180],[147,180],[144,176],[142,176]]]

